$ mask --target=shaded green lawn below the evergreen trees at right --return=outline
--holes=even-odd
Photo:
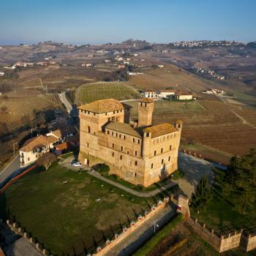
[[[223,171],[215,170],[217,176],[223,175]],[[196,217],[198,222],[206,223],[209,228],[214,228],[219,234],[229,233],[231,230],[252,227],[256,223],[256,213],[252,211],[245,215],[236,211],[232,205],[232,198],[222,196],[221,189],[214,188],[214,196],[197,214],[192,211],[192,217]],[[255,230],[256,231],[256,230]]]

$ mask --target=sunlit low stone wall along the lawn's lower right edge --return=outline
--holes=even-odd
[[[161,211],[162,208],[165,208],[167,206],[167,203],[169,201],[169,197],[165,197],[164,202],[159,201],[157,203],[157,206],[152,206],[151,211],[146,213],[145,216],[139,216],[137,222],[131,222],[130,226],[127,228],[124,228],[121,234],[116,234],[114,239],[112,241],[107,240],[105,242],[104,248],[98,247],[97,253],[95,255],[97,256],[104,256],[107,252],[110,251],[110,249],[113,249],[116,244],[120,243],[124,238],[127,238],[131,233],[135,232],[140,228],[141,225],[143,225],[144,222],[146,222],[150,217],[154,216],[157,212]]]

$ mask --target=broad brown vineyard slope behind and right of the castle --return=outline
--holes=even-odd
[[[132,118],[138,118],[137,102],[128,104],[133,107]],[[186,141],[195,144],[193,150],[200,143],[213,151],[241,155],[256,146],[256,110],[253,108],[212,100],[155,102],[154,124],[173,123],[177,119],[184,121],[181,136],[184,144]]]

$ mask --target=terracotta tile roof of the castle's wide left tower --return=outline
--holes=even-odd
[[[94,113],[106,113],[115,110],[123,110],[124,105],[117,99],[100,99],[86,105],[81,105],[78,109],[91,111]]]

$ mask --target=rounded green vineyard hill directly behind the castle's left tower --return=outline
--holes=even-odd
[[[80,86],[77,91],[78,105],[93,102],[98,99],[135,99],[139,98],[138,91],[121,82],[99,82]]]

